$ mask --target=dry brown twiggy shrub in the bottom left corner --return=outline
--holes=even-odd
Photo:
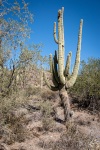
[[[15,116],[8,113],[5,119],[5,125],[2,127],[2,139],[4,143],[12,144],[15,141],[23,142],[27,137],[28,130],[25,127],[24,116]]]

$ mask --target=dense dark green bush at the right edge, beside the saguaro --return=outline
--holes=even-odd
[[[100,110],[100,59],[81,62],[79,76],[70,93],[79,106]]]

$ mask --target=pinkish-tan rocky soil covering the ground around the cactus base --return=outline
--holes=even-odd
[[[44,118],[43,109],[41,109],[41,106],[43,106],[42,104],[45,104],[44,99],[48,99],[48,104],[52,108],[55,101],[58,100],[58,96],[57,94],[53,95],[48,91],[47,95],[44,93],[41,97],[31,96],[27,104],[12,112],[13,116],[16,118],[19,118],[19,116],[24,118],[24,123],[22,121],[22,124],[26,133],[21,135],[22,137],[20,138],[22,138],[22,140],[15,140],[11,143],[0,136],[0,150],[76,150],[78,148],[73,148],[73,146],[77,139],[78,142],[84,141],[86,144],[87,141],[89,141],[89,150],[100,149],[100,122],[97,115],[92,115],[87,111],[78,110],[73,107],[73,118],[65,125],[63,123],[64,116],[61,107],[57,108],[57,114],[59,116],[58,120],[53,120],[52,115],[48,116],[48,118]],[[47,105],[46,107],[47,108],[44,108],[45,111],[46,109],[49,109]],[[50,111],[52,112],[52,109]],[[50,118],[51,120],[48,120]],[[43,124],[43,119],[46,119],[44,120],[45,124]],[[46,129],[45,126],[48,126],[48,128]],[[18,129],[19,128],[20,126]],[[5,136],[8,138],[8,135]],[[85,137],[84,140],[82,139],[83,136]],[[66,145],[63,145],[63,140],[66,140],[69,137],[73,140],[72,145],[69,144],[68,146],[68,142],[72,141],[71,139],[68,139],[67,142],[65,141],[64,143],[66,143]],[[81,149],[88,150],[85,146],[81,146],[80,150]]]

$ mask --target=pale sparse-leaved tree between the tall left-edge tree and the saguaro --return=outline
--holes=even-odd
[[[48,61],[47,56],[42,56],[42,47],[43,44],[30,44],[28,46],[21,46],[21,53],[17,62],[16,71],[17,80],[18,82],[22,83],[23,88],[26,87],[27,76],[29,76],[31,72],[33,72],[33,74],[36,74],[36,70],[41,74],[41,85],[43,65]]]

